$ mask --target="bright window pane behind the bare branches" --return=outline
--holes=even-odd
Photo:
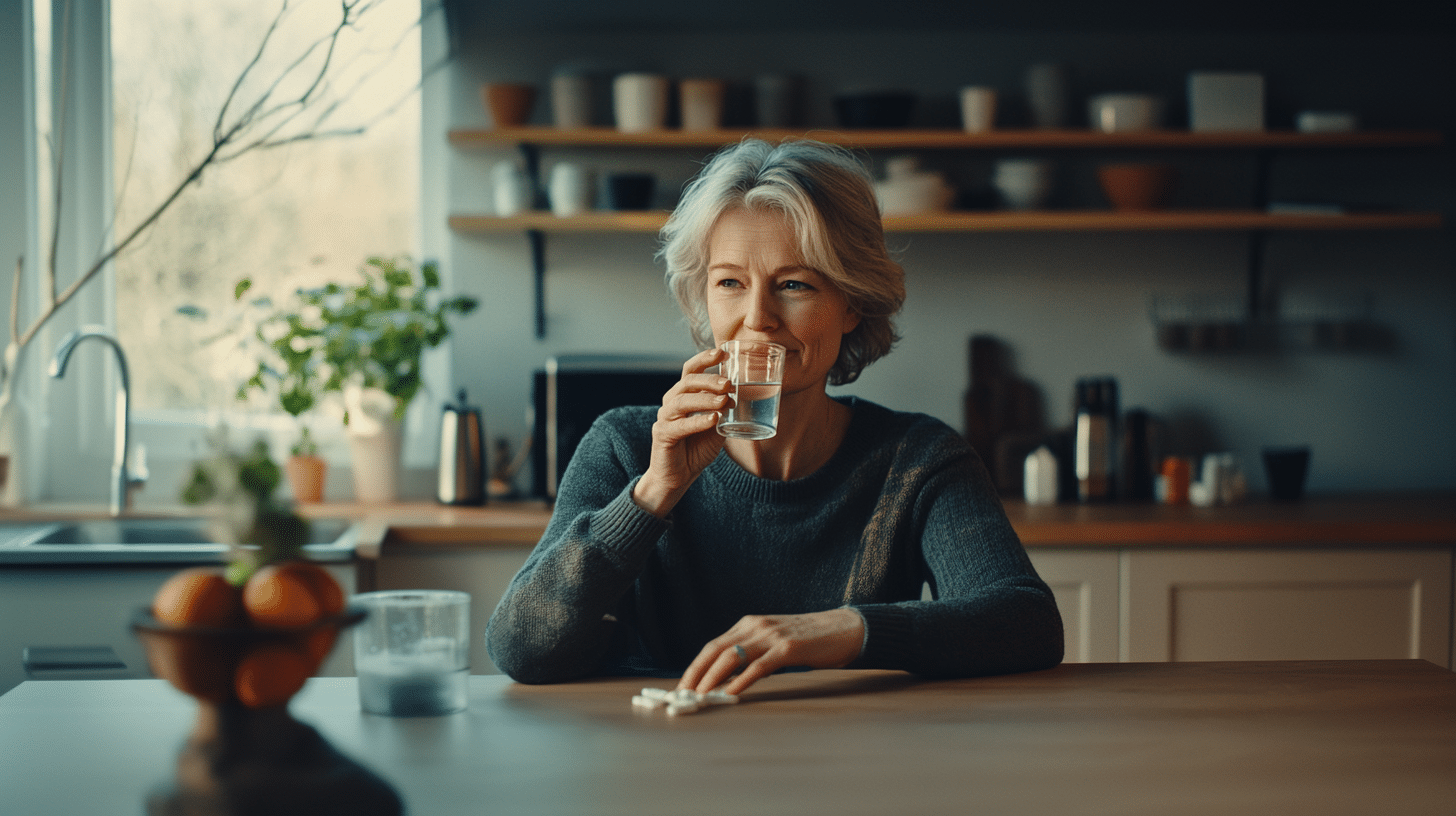
[[[358,136],[252,150],[208,168],[116,259],[115,326],[138,417],[237,408],[233,395],[256,358],[218,335],[236,315],[240,278],[277,299],[352,280],[368,255],[416,254],[419,3],[352,6],[358,22],[329,52],[339,0],[111,0],[114,240],[211,149],[224,103],[234,117],[258,99],[297,98],[325,55],[335,76],[317,90],[323,105],[336,98],[339,106],[316,130],[368,124]],[[265,35],[268,47],[249,67]],[[313,127],[300,121],[281,133]],[[181,306],[198,306],[210,319],[182,316]]]

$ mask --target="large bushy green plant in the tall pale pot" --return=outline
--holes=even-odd
[[[434,262],[371,256],[357,284],[300,289],[256,328],[281,367],[259,364],[249,388],[274,380],[290,414],[306,411],[316,393],[344,398],[360,501],[390,501],[399,493],[400,428],[424,385],[424,353],[450,337],[450,315],[467,315],[473,297],[443,297]],[[239,284],[237,297],[246,291]],[[296,412],[297,411],[297,412]]]

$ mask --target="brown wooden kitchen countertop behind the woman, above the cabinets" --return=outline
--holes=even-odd
[[[326,504],[316,517],[365,519],[361,554],[399,548],[531,546],[550,519],[545,503],[443,507]],[[1456,494],[1402,493],[1249,501],[1229,507],[1006,501],[1026,546],[1456,545]]]

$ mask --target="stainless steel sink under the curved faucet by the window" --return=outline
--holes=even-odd
[[[348,522],[317,520],[307,551],[323,561],[354,554]],[[124,517],[0,527],[0,562],[215,561],[227,549],[202,517]]]

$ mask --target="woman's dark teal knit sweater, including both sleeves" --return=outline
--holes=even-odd
[[[496,667],[527,683],[680,672],[750,613],[853,606],[852,667],[997,675],[1061,662],[1061,616],[980,459],[923,414],[843,398],[817,472],[757,478],[727,453],[657,519],[632,501],[655,408],[587,433],[550,525],[491,616]],[[935,600],[920,600],[930,584]]]

